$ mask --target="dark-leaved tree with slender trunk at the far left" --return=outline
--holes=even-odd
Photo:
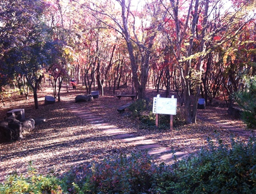
[[[8,75],[15,72],[26,77],[33,89],[35,108],[38,109],[37,87],[45,63],[42,49],[48,38],[44,13],[48,5],[39,0],[4,0],[0,5],[0,61],[4,59],[2,64],[8,65]],[[13,55],[16,57],[13,58]]]

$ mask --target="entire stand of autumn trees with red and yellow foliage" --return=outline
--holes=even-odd
[[[166,97],[176,91],[186,122],[196,123],[199,98],[230,106],[229,96],[245,87],[243,76],[255,76],[255,6],[254,0],[3,0],[0,92],[13,80],[29,85],[38,108],[36,91],[47,73],[55,98],[57,81],[60,90],[71,78],[102,95],[131,83],[139,99],[151,84],[165,87]]]

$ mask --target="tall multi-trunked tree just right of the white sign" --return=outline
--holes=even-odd
[[[219,0],[170,0],[169,7],[165,8],[169,11],[169,19],[175,23],[175,40],[170,39],[170,47],[175,54],[184,89],[185,119],[187,123],[196,123],[205,57],[239,35],[252,16],[242,14],[243,6],[232,10],[225,8]],[[219,26],[212,31],[210,27],[217,22]],[[220,39],[215,39],[219,33],[222,33]]]

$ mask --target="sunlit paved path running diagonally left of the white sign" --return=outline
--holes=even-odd
[[[89,108],[81,108],[78,105],[69,105],[67,109],[74,113],[76,116],[83,118],[93,127],[102,130],[105,134],[114,136],[122,142],[125,142],[131,146],[135,146],[140,150],[147,150],[154,159],[161,159],[166,164],[170,164],[174,161],[174,155],[177,159],[182,159],[188,156],[187,152],[176,152],[173,150],[162,147],[152,139],[146,139],[143,136],[138,136],[135,133],[127,133],[127,131],[118,128],[117,126],[111,125],[104,122],[97,114],[92,113]]]

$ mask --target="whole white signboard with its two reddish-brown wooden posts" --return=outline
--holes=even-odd
[[[170,130],[173,130],[173,115],[176,115],[177,99],[174,98],[161,98],[160,94],[153,99],[153,113],[156,114],[156,127],[159,126],[159,114],[170,115]]]

